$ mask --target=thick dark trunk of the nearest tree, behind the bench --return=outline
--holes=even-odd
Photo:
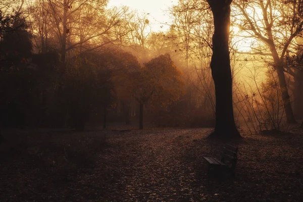
[[[229,58],[230,4],[232,0],[208,0],[214,15],[212,76],[216,90],[216,126],[210,137],[239,138],[233,115]]]

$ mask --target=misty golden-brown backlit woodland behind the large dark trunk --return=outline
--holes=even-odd
[[[179,1],[170,28],[154,32],[149,14],[105,0],[2,1],[2,127],[214,126],[212,2]],[[302,118],[302,2],[226,3],[235,121]]]

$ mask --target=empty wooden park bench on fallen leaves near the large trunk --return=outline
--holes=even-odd
[[[213,169],[228,170],[234,176],[237,164],[237,152],[238,147],[226,144],[223,147],[222,158],[220,160],[214,157],[203,157],[208,162],[207,172],[210,173]]]

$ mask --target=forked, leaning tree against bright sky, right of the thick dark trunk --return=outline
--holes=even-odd
[[[288,123],[295,123],[288,86],[285,79],[285,56],[303,26],[301,1],[235,1],[238,27],[255,38],[250,55],[270,56],[279,78],[280,90]],[[266,45],[264,47],[262,45]],[[266,51],[270,51],[270,53]]]

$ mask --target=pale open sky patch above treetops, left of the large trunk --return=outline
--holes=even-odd
[[[128,6],[145,13],[149,13],[149,22],[153,31],[165,31],[169,26],[165,26],[165,22],[169,22],[169,16],[166,14],[168,7],[176,5],[178,0],[110,0],[108,8],[113,6]],[[162,24],[164,23],[164,24]],[[160,26],[163,26],[161,28]]]

